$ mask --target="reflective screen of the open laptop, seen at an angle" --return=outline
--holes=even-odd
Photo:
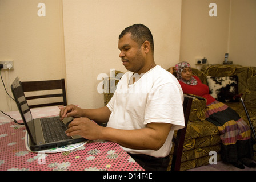
[[[31,111],[29,109],[29,105],[27,104],[27,100],[24,95],[21,82],[19,81],[18,77],[14,80],[13,84],[11,84],[11,91],[13,92],[13,96],[15,98],[15,102],[19,109],[19,113],[21,114],[23,122],[26,125],[27,132],[29,133],[31,140],[34,143],[35,141],[34,140],[35,139],[34,120],[33,120]]]

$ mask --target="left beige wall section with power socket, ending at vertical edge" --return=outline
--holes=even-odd
[[[37,14],[41,2],[45,17]],[[62,20],[61,0],[0,0],[0,61],[14,61],[13,70],[2,69],[9,91],[17,76],[21,81],[66,78]],[[2,82],[0,110],[17,110]]]

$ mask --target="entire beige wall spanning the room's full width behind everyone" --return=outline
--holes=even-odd
[[[38,17],[38,3],[46,17]],[[209,4],[217,4],[217,17]],[[62,6],[63,4],[63,6]],[[256,66],[255,0],[0,0],[0,61],[13,60],[2,76],[10,84],[66,78],[69,103],[103,105],[100,73],[126,71],[118,55],[118,35],[134,23],[153,32],[155,61],[167,69],[179,60],[206,57]],[[65,41],[65,42],[64,42]],[[17,110],[0,83],[0,110]]]

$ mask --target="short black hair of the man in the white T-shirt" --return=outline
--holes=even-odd
[[[146,40],[149,41],[152,52],[154,52],[153,35],[149,28],[143,24],[134,24],[125,28],[125,30],[123,30],[119,35],[119,39],[129,33],[131,33],[131,39],[137,42],[139,46],[141,46]]]

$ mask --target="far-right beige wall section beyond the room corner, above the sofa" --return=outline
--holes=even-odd
[[[230,60],[234,64],[256,66],[256,1],[230,2]]]

